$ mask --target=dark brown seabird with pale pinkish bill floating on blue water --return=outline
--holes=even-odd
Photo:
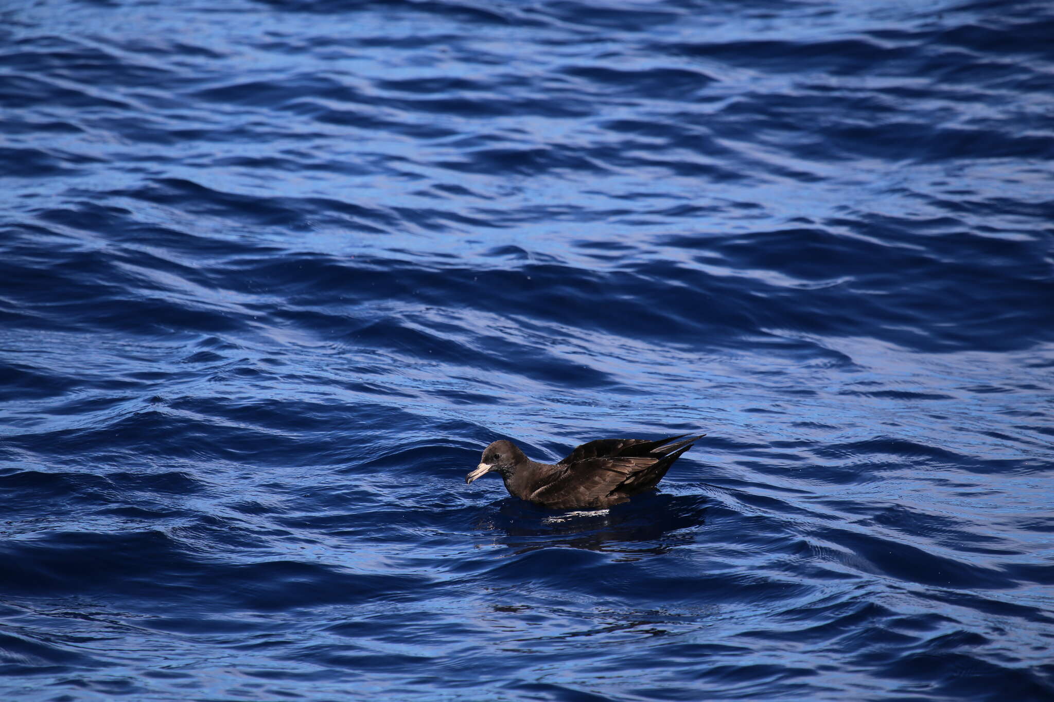
[[[655,487],[691,444],[705,437],[687,434],[658,441],[598,439],[559,463],[535,463],[511,441],[483,449],[483,460],[465,484],[494,472],[509,495],[553,509],[603,509]]]

